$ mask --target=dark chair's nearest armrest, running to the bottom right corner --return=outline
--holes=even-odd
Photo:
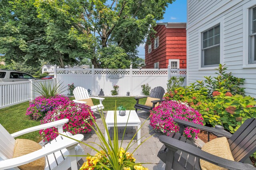
[[[166,148],[168,148],[168,152],[170,150],[176,152],[177,150],[182,150],[188,154],[192,154],[200,159],[206,160],[212,164],[230,169],[230,170],[255,170],[254,166],[249,164],[244,164],[241,162],[236,162],[228,159],[221,158],[219,156],[215,156],[208,152],[205,152],[193,145],[190,145],[185,142],[181,142],[177,139],[162,135],[159,137],[160,142],[162,142]],[[168,159],[168,158],[167,158]]]

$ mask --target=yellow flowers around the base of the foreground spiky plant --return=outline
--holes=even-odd
[[[108,155],[103,150],[100,151],[100,153],[96,153],[95,156],[87,156],[87,161],[84,162],[80,170],[102,170],[102,164],[108,166],[110,169],[112,169],[111,164],[106,159]],[[135,158],[133,157],[133,154],[130,152],[125,152],[124,148],[119,148],[119,158],[118,162],[122,165],[120,166],[120,169],[122,170],[148,170],[148,168],[143,167],[140,164],[131,165],[131,163],[135,163]],[[93,167],[92,167],[93,166]],[[91,168],[92,167],[92,168]]]

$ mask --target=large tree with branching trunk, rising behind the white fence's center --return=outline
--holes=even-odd
[[[168,4],[174,0],[36,0],[39,17],[51,25],[52,36],[58,35],[63,23],[71,24],[76,29],[74,39],[83,39],[83,46],[90,49],[84,57],[90,58],[95,68],[115,66],[106,64],[101,59],[102,51],[113,51],[113,47],[120,47],[128,55],[124,57],[136,61],[136,48],[144,43],[145,37],[155,32],[152,27],[156,20],[163,18]],[[60,24],[60,25],[59,25]],[[80,32],[81,31],[81,32]],[[62,37],[61,35],[58,38]],[[56,40],[56,41],[57,41]],[[60,42],[62,43],[62,41]],[[110,47],[110,48],[105,48]],[[103,50],[101,50],[103,49]],[[100,52],[98,52],[100,51]],[[116,50],[115,50],[116,51]],[[120,55],[115,55],[120,57]],[[115,62],[111,57],[112,62]],[[119,60],[117,58],[116,60]],[[108,61],[109,63],[109,61]],[[124,64],[126,65],[126,64]]]

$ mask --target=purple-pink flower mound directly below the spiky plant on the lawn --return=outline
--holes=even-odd
[[[30,102],[26,115],[30,116],[34,120],[42,119],[48,111],[52,111],[57,106],[66,104],[69,101],[69,98],[60,94],[50,98],[38,96]]]

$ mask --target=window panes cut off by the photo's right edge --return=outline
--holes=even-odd
[[[249,63],[256,63],[256,6],[249,10]]]

